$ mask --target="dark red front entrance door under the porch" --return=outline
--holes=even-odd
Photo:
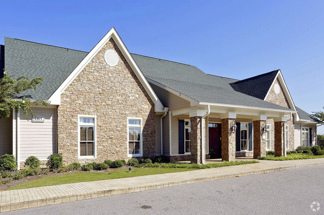
[[[210,158],[219,158],[222,156],[221,143],[221,125],[220,123],[208,123],[209,131],[209,152]]]

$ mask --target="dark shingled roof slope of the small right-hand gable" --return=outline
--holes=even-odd
[[[259,74],[254,77],[249,77],[243,80],[239,80],[230,85],[235,91],[259,98],[265,99],[274,79],[277,76],[279,70]]]

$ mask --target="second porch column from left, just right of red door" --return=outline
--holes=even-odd
[[[231,131],[235,119],[222,119],[222,160],[235,160],[236,135]],[[237,128],[240,129],[240,128]]]

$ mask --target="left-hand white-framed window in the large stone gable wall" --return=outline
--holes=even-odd
[[[78,157],[95,158],[96,157],[96,116],[78,115]]]

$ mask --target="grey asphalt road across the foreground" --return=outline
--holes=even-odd
[[[278,161],[280,162],[280,161]],[[152,176],[154,177],[154,176]],[[32,208],[3,215],[323,215],[324,165]],[[319,203],[319,211],[311,205]]]

